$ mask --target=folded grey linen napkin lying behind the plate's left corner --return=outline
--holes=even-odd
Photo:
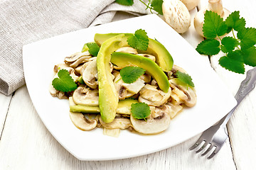
[[[0,92],[10,95],[25,84],[23,45],[111,22],[116,11],[149,13],[145,8],[139,0],[132,6],[114,0],[1,0]]]

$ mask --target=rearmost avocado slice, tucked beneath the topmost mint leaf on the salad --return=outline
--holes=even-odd
[[[101,46],[105,40],[112,38],[116,35],[119,35],[118,33],[107,33],[107,34],[95,34],[95,42],[97,45]],[[127,43],[127,38],[129,36],[133,35],[132,33],[124,33],[124,46],[129,46]],[[139,53],[146,53],[149,55],[154,55],[156,57],[156,63],[161,67],[161,69],[164,70],[164,72],[169,72],[171,71],[173,65],[174,65],[174,60],[171,57],[170,53],[164,45],[162,45],[160,42],[157,40],[153,40],[149,38],[149,46],[146,51],[140,51]]]

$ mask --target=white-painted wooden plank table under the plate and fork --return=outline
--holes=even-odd
[[[201,0],[197,10],[206,6]],[[230,11],[240,11],[247,27],[256,27],[255,0],[223,0]],[[118,13],[115,20],[131,17]],[[191,26],[182,35],[193,47],[202,38]],[[220,55],[211,57],[209,67],[223,79],[233,95],[245,75],[228,72],[218,65]],[[206,57],[206,60],[208,58]],[[247,68],[249,69],[249,68]],[[38,117],[26,86],[11,96],[0,94],[0,169],[256,169],[256,89],[242,101],[228,123],[229,138],[213,159],[188,151],[199,135],[153,154],[105,162],[82,162],[66,151]]]

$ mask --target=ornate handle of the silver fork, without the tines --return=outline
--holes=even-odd
[[[228,123],[228,120],[230,119],[231,115],[235,111],[235,109],[238,107],[238,105],[241,103],[241,101],[247,96],[247,94],[252,91],[252,89],[255,88],[256,84],[256,67],[254,69],[250,69],[247,72],[246,78],[241,82],[240,87],[238,89],[237,94],[235,94],[235,99],[238,101],[237,105],[222,118],[218,125],[223,126]]]

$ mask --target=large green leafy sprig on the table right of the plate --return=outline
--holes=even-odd
[[[231,31],[233,37],[221,38]],[[231,13],[225,21],[217,13],[206,11],[203,35],[206,40],[196,47],[201,55],[217,55],[222,51],[225,55],[220,57],[220,66],[239,74],[245,73],[245,64],[256,67],[256,29],[245,28],[245,18],[240,17],[239,11]]]

